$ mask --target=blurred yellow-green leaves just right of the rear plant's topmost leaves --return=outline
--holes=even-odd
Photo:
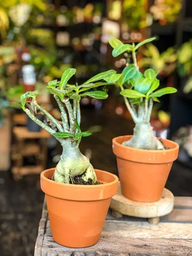
[[[143,57],[138,61],[140,68],[152,68],[156,74],[170,76],[177,67],[177,51],[175,47],[170,47],[160,53],[153,44],[148,44],[141,49]]]

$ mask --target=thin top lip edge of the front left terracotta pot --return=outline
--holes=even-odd
[[[47,172],[50,172],[52,170],[55,170],[55,168],[50,168],[50,169],[47,169],[47,170],[44,170],[43,172],[41,172],[40,174],[40,178],[41,179],[44,179],[45,182],[53,182],[54,184],[58,185],[58,186],[63,186],[65,188],[81,188],[81,189],[85,189],[85,188],[89,188],[89,189],[92,189],[92,188],[95,188],[95,186],[97,186],[97,188],[100,188],[100,187],[103,187],[103,186],[111,186],[113,184],[115,184],[116,182],[118,182],[118,177],[113,174],[113,173],[110,173],[110,172],[106,172],[106,171],[102,171],[102,170],[98,170],[98,169],[94,169],[96,170],[97,172],[103,172],[103,173],[107,173],[108,175],[111,175],[115,178],[115,180],[113,180],[113,182],[108,182],[108,183],[104,183],[104,184],[98,184],[98,185],[78,185],[78,184],[66,184],[66,183],[62,183],[62,182],[56,182],[54,180],[49,180],[47,177],[45,177],[45,173]]]

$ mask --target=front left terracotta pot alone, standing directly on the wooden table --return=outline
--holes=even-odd
[[[41,173],[52,237],[68,247],[92,246],[99,240],[111,197],[118,186],[116,175],[95,170],[101,185],[73,185],[49,180],[54,168]]]

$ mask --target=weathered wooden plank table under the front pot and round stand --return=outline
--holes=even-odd
[[[35,256],[136,255],[192,255],[192,197],[175,197],[173,211],[158,225],[128,216],[115,219],[109,211],[99,242],[89,248],[67,248],[55,243],[44,203]]]

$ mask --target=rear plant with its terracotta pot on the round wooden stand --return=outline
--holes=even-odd
[[[122,194],[138,202],[155,202],[161,198],[164,185],[173,161],[177,159],[179,145],[154,136],[150,125],[153,102],[167,93],[175,93],[175,88],[159,87],[157,74],[151,68],[142,74],[138,70],[136,52],[143,44],[155,38],[148,38],[137,45],[123,44],[118,39],[109,40],[114,48],[113,56],[124,52],[132,56],[122,74],[113,74],[106,81],[120,86],[127,109],[136,124],[133,136],[120,136],[113,139],[113,152],[117,157]],[[126,55],[127,55],[126,54]]]

